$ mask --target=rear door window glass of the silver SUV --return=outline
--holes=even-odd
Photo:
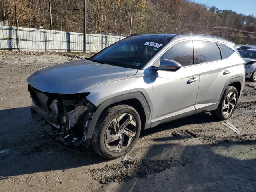
[[[196,46],[199,48],[198,63],[221,60],[220,48],[215,42],[196,41]]]

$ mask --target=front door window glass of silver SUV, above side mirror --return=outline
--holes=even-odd
[[[174,60],[179,62],[182,66],[192,65],[194,63],[192,41],[182,41],[175,44],[167,50],[160,59],[161,61],[164,59]]]

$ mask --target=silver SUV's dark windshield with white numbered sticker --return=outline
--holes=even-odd
[[[152,38],[125,38],[90,60],[126,68],[142,68],[168,41]]]

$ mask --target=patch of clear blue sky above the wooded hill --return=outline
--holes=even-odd
[[[233,10],[245,15],[256,16],[256,0],[194,0],[206,6],[215,6],[218,9]]]

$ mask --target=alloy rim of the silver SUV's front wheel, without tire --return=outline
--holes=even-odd
[[[135,137],[137,124],[135,118],[128,113],[116,116],[108,125],[104,142],[111,152],[121,152],[130,146]]]

